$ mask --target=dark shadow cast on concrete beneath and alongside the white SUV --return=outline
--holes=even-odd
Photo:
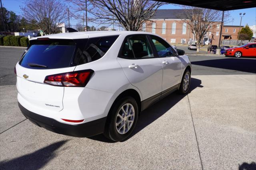
[[[196,79],[196,78],[191,78],[191,84],[190,84],[190,93],[192,90],[195,88],[202,88],[203,86],[201,85],[201,80]],[[180,100],[182,100],[186,95],[181,95],[177,91],[173,92],[172,94],[166,96],[159,102],[156,102],[152,106],[148,107],[144,111],[140,113],[140,116],[138,118],[137,125],[134,129],[134,132],[132,135],[130,135],[129,138],[132,136],[136,135],[139,131],[150,125],[150,123],[154,122],[156,119],[164,115],[169,109],[171,109],[174,105],[176,105]],[[114,143],[114,141],[111,141],[104,137],[103,134],[96,135],[93,137],[88,137],[89,139],[96,140],[96,141],[101,141],[101,142],[106,142],[106,143]],[[128,139],[129,139],[128,138]],[[126,140],[128,140],[126,139]],[[125,140],[125,141],[126,141]]]

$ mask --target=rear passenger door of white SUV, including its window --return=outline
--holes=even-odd
[[[160,98],[162,91],[162,64],[154,56],[146,35],[126,37],[118,62],[130,83],[140,90],[142,100],[156,94],[158,95],[155,96],[155,99]]]

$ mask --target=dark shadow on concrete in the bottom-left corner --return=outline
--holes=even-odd
[[[0,169],[40,169],[56,156],[54,152],[57,149],[59,149],[62,145],[64,145],[67,141],[68,140],[64,140],[53,143],[47,147],[36,150],[35,152],[14,158],[12,160],[3,160],[0,162]]]

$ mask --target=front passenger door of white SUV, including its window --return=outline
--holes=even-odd
[[[171,45],[158,36],[150,35],[150,37],[157,51],[157,57],[162,63],[162,91],[164,91],[180,83],[182,64]]]

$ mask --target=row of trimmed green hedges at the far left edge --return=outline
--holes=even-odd
[[[14,35],[7,35],[7,36],[0,35],[0,45],[28,47],[29,41],[28,41],[28,37],[14,36]]]

